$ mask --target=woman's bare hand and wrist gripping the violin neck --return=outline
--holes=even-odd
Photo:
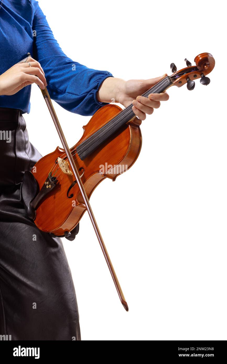
[[[132,110],[140,120],[146,119],[146,114],[151,115],[154,109],[160,107],[160,101],[169,99],[167,92],[161,94],[150,94],[148,98],[141,96],[153,87],[156,83],[165,78],[167,74],[151,78],[148,80],[128,80],[124,81],[115,77],[108,77],[104,80],[97,93],[97,98],[101,102],[116,102],[127,107],[131,103]]]

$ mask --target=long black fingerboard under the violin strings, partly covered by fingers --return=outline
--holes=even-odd
[[[160,94],[170,87],[172,81],[169,76],[166,76],[155,86],[144,92],[142,96],[148,97],[150,94]],[[95,151],[102,143],[111,137],[120,127],[134,118],[135,114],[132,110],[133,104],[127,106],[124,110],[120,111],[114,118],[106,123],[99,130],[94,132],[89,138],[77,145],[76,151],[80,159],[83,161],[88,155]]]

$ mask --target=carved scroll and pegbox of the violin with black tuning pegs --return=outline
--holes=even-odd
[[[210,78],[208,78],[206,76],[206,74],[209,73],[214,68],[215,61],[210,53],[206,54],[205,59],[204,59],[204,55],[205,54],[202,53],[195,58],[194,61],[196,62],[197,67],[192,66],[191,62],[187,58],[184,59],[187,67],[191,69],[191,72],[188,72],[187,68],[184,68],[183,70],[180,70],[179,72],[177,72],[176,65],[174,63],[171,63],[171,65],[170,65],[171,71],[173,72],[174,75],[177,76],[177,78],[179,78],[179,74],[186,76],[187,89],[190,91],[194,90],[194,87],[195,87],[194,79],[196,79],[196,78],[200,77],[200,83],[202,83],[202,85],[207,86],[210,83]],[[193,72],[193,71],[196,71],[196,72]],[[204,71],[204,72],[200,72],[198,74],[197,71]],[[186,82],[184,82],[184,83],[186,83]],[[178,80],[178,84],[176,86],[180,87],[180,86],[182,86],[182,84],[183,84],[182,81]]]

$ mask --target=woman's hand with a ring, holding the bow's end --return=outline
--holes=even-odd
[[[28,57],[26,62],[17,63],[0,75],[0,95],[14,95],[32,83],[36,83],[42,90],[47,86],[40,63]]]

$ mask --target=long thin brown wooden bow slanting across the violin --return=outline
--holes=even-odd
[[[30,53],[27,53],[27,58],[23,59],[22,61],[20,61],[20,62],[18,62],[18,63],[26,62],[26,60],[28,59],[28,57],[29,57],[29,56],[31,56],[31,54],[30,54]],[[100,246],[101,246],[101,250],[102,250],[103,255],[104,255],[104,257],[105,257],[105,261],[107,262],[107,265],[108,265],[108,268],[109,268],[109,272],[110,272],[110,274],[111,274],[111,276],[112,276],[112,279],[113,279],[113,281],[114,281],[114,284],[115,284],[116,290],[117,290],[117,292],[118,292],[118,296],[119,296],[119,298],[120,298],[120,301],[122,302],[122,305],[123,305],[124,309],[125,309],[126,311],[128,311],[128,304],[127,304],[127,302],[126,302],[126,299],[124,298],[124,294],[123,294],[123,292],[122,292],[122,288],[121,288],[121,286],[120,286],[120,283],[119,283],[118,277],[116,276],[116,273],[115,273],[114,267],[113,267],[113,265],[112,265],[112,263],[111,263],[111,260],[110,260],[110,258],[109,258],[109,254],[108,254],[107,249],[106,249],[106,247],[105,247],[105,244],[104,244],[103,238],[102,238],[102,236],[101,236],[101,233],[100,233],[99,227],[98,227],[98,225],[97,225],[97,222],[96,222],[95,216],[94,216],[94,214],[93,214],[93,211],[92,211],[92,209],[91,209],[91,205],[90,205],[90,202],[89,202],[89,199],[88,199],[87,193],[86,193],[86,191],[85,191],[85,189],[84,189],[83,183],[81,182],[80,175],[79,175],[79,173],[78,173],[78,171],[77,171],[77,168],[76,168],[76,165],[75,165],[75,161],[74,161],[74,159],[73,159],[73,157],[72,157],[71,151],[70,151],[70,149],[69,149],[69,147],[68,147],[68,143],[67,143],[67,141],[66,141],[66,139],[65,139],[65,136],[64,136],[63,130],[62,130],[61,125],[60,125],[60,123],[59,123],[59,120],[58,120],[58,118],[57,118],[57,115],[56,115],[55,109],[54,109],[54,107],[53,107],[53,104],[52,104],[51,98],[50,98],[50,96],[49,96],[49,93],[48,93],[48,91],[47,91],[47,88],[46,88],[46,87],[45,87],[45,89],[44,89],[44,90],[42,90],[41,88],[40,88],[40,90],[41,90],[41,92],[42,92],[43,98],[44,98],[44,100],[45,100],[45,102],[46,102],[46,104],[47,104],[48,110],[49,110],[49,112],[50,112],[50,114],[51,114],[51,117],[52,117],[52,119],[53,119],[53,123],[55,124],[55,127],[56,127],[56,129],[57,129],[57,133],[58,133],[58,135],[59,135],[59,138],[60,138],[61,143],[62,143],[62,145],[63,145],[63,148],[64,148],[64,150],[65,150],[65,153],[66,153],[66,155],[67,155],[67,157],[68,157],[68,161],[69,161],[69,163],[70,163],[70,165],[71,165],[71,168],[72,168],[73,174],[75,175],[76,182],[78,183],[78,187],[79,187],[79,189],[80,189],[80,193],[81,193],[81,195],[82,195],[82,197],[83,197],[84,204],[85,204],[85,206],[86,206],[86,208],[87,208],[88,215],[89,215],[89,217],[90,217],[90,219],[91,219],[91,222],[92,222],[93,228],[94,228],[94,230],[95,230],[95,233],[96,233],[97,239],[98,239],[99,244],[100,244]]]

